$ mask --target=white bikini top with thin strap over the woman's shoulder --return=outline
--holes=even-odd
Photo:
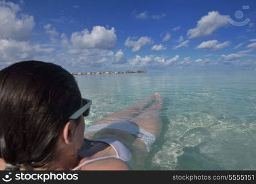
[[[118,158],[125,162],[129,162],[131,160],[132,154],[130,153],[130,150],[124,144],[122,144],[122,142],[120,142],[119,140],[97,139],[97,141],[105,142],[106,144],[109,144],[112,148],[114,148],[114,151],[116,151],[116,155],[102,156],[99,158],[88,159],[88,160],[84,161],[82,164],[80,164],[79,166],[74,167],[74,169],[72,169],[72,171],[76,171],[80,167],[84,166],[85,164],[88,164],[88,163],[91,163],[93,161],[97,161],[100,159]]]

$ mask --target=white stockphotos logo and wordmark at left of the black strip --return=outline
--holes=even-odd
[[[49,180],[78,180],[78,174],[66,174],[65,172],[62,173],[24,173],[24,172],[19,172],[12,174],[12,172],[9,172],[6,174],[3,178],[2,181],[4,182],[10,182],[10,181],[20,181],[20,180],[37,180],[37,181],[42,181],[46,182]]]

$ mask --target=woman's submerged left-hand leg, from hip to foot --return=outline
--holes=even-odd
[[[143,108],[148,105],[148,102],[156,97],[158,97],[157,93],[153,94],[147,99],[144,99],[143,101],[138,102],[137,104],[132,105],[132,107],[124,109],[120,112],[112,113],[111,115],[96,121],[93,123],[93,125],[108,124],[114,121],[128,121],[130,118],[135,117],[138,115],[138,113],[142,112]]]

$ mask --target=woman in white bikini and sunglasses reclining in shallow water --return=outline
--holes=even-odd
[[[56,64],[22,61],[2,69],[0,168],[129,170],[132,162],[142,168],[161,132],[161,96],[97,121],[84,135],[91,104],[73,75]]]

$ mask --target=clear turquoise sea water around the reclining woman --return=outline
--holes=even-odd
[[[86,124],[148,96],[165,97],[164,131],[146,170],[256,170],[256,71],[76,75]]]

